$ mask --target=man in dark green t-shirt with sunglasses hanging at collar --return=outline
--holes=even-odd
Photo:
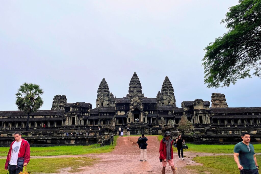
[[[240,174],[258,174],[257,159],[254,152],[254,146],[250,144],[250,134],[242,133],[241,142],[234,147],[234,160],[238,165]]]

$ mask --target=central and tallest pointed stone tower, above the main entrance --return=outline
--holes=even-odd
[[[129,83],[129,94],[127,94],[127,97],[132,98],[134,96],[144,97],[144,94],[141,90],[141,84],[140,79],[137,76],[136,72],[134,72],[131,81]]]

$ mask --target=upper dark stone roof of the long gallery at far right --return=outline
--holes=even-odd
[[[244,113],[244,112],[261,112],[261,107],[227,107],[227,108],[210,108],[210,110],[212,113]]]

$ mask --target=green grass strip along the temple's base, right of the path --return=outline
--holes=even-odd
[[[158,136],[158,140],[161,141],[163,138],[162,135]],[[186,140],[185,140],[186,142]],[[233,154],[234,145],[196,145],[192,143],[186,143],[188,149],[186,151],[193,152],[206,152],[206,153],[231,153]],[[255,153],[261,153],[261,144],[254,144]],[[173,148],[173,151],[177,151],[176,148]],[[185,151],[185,152],[186,152]]]

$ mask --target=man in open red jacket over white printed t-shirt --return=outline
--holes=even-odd
[[[23,171],[23,166],[27,166],[30,161],[30,145],[28,141],[21,138],[21,132],[15,132],[13,141],[6,158],[5,170],[9,174],[18,174]]]

